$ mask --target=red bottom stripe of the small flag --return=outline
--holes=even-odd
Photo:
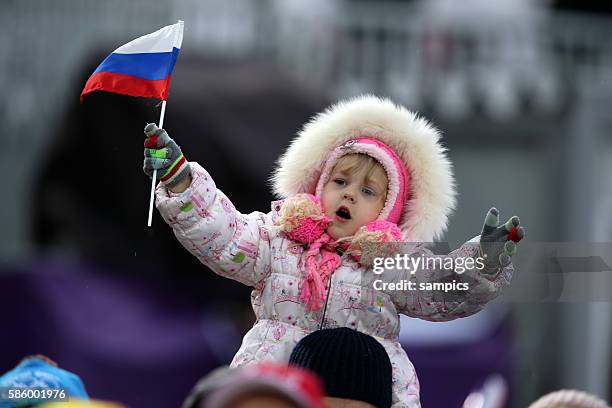
[[[90,92],[107,91],[165,101],[168,99],[169,85],[170,75],[166,79],[148,80],[114,72],[96,72],[87,80],[80,99],[82,103],[83,96]]]

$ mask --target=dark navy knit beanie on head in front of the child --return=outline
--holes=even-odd
[[[289,364],[317,374],[328,397],[391,406],[391,360],[372,336],[347,327],[315,331],[295,346]]]

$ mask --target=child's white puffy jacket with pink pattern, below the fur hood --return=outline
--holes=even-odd
[[[242,214],[216,188],[210,175],[190,163],[193,181],[181,194],[159,186],[156,205],[176,237],[189,252],[217,274],[253,288],[251,303],[257,321],[244,336],[231,366],[264,360],[287,361],[295,344],[321,327],[349,327],[376,338],[387,350],[393,366],[393,407],[419,407],[419,382],[415,369],[398,341],[403,313],[430,321],[465,317],[481,310],[508,285],[512,265],[496,273],[477,274],[462,296],[440,299],[426,291],[374,290],[372,270],[351,256],[328,283],[329,296],[320,311],[309,312],[299,300],[305,249],[274,228],[280,201],[267,214]],[[447,257],[476,257],[476,244],[466,243]],[[412,256],[434,256],[424,246]],[[389,274],[395,274],[389,276]],[[435,269],[385,271],[385,281],[402,279],[420,284],[441,273]],[[448,274],[448,273],[447,273]],[[456,280],[461,276],[455,275]]]

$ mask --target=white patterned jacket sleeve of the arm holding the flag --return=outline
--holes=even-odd
[[[270,272],[271,213],[242,214],[191,162],[191,186],[173,193],[161,184],[156,206],[180,243],[215,273],[257,286]]]

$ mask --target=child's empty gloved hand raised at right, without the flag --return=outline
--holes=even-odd
[[[499,225],[499,211],[492,207],[482,227],[480,234],[480,249],[486,258],[485,269],[497,269],[507,266],[511,257],[516,254],[516,243],[525,236],[525,230],[520,226],[521,221],[516,215],[505,224]]]

